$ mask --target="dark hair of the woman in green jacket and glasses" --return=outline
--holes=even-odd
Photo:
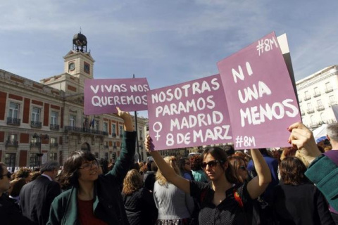
[[[58,182],[61,184],[63,190],[70,188],[71,186],[78,186],[80,173],[78,168],[81,167],[83,162],[96,160],[95,155],[87,150],[76,150],[70,153],[67,160],[63,164],[63,169],[58,176]]]

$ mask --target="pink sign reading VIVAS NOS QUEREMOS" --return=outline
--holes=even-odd
[[[117,113],[146,110],[146,78],[86,79],[84,81],[84,114]]]

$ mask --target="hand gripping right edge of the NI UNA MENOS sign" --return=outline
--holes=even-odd
[[[301,122],[296,122],[287,129],[291,132],[289,143],[299,150],[309,164],[320,155],[312,131],[308,127]]]

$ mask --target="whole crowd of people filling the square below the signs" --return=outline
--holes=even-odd
[[[0,224],[338,224],[338,123],[327,127],[330,143],[296,123],[288,148],[213,146],[189,158],[162,158],[147,136],[151,159],[134,162],[132,118],[118,116],[125,131],[113,167],[89,151],[39,172],[11,174],[0,162]]]

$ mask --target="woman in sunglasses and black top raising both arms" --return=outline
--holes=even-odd
[[[258,149],[251,150],[258,176],[249,183],[235,185],[237,179],[221,148],[207,148],[202,153],[202,168],[211,180],[206,184],[177,175],[161,155],[151,149],[150,136],[147,136],[145,146],[168,182],[199,200],[199,224],[251,224],[252,216],[247,213],[252,212],[251,200],[261,195],[271,181],[268,165]]]

